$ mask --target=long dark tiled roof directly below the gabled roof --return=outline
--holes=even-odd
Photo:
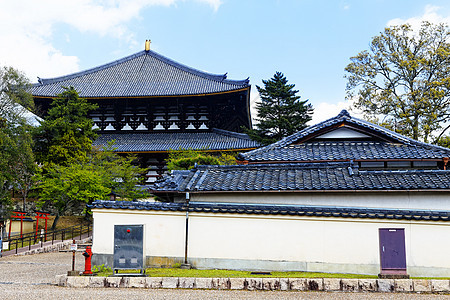
[[[198,166],[172,171],[155,192],[450,190],[450,171],[359,171],[349,163]]]

